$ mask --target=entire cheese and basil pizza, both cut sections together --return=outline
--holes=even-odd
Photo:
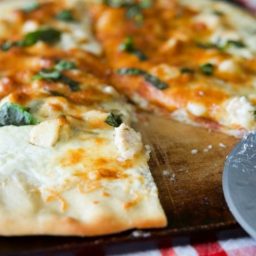
[[[1,1],[0,234],[165,227],[127,98],[230,135],[255,130],[254,23],[204,0]]]

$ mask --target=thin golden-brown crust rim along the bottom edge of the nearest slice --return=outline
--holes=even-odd
[[[136,225],[127,225],[114,219],[113,216],[95,220],[92,223],[81,223],[69,217],[52,216],[43,220],[23,218],[0,218],[0,232],[4,236],[23,235],[58,235],[58,236],[98,236],[119,233],[132,228],[159,228],[166,226],[161,216],[155,219],[137,220]],[[15,230],[15,232],[13,232]]]

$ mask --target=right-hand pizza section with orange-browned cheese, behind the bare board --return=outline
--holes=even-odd
[[[130,99],[235,136],[256,128],[255,18],[205,0],[108,0],[90,12]]]

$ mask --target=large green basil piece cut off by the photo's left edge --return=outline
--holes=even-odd
[[[22,106],[14,103],[4,103],[0,108],[0,126],[34,125],[36,119]]]

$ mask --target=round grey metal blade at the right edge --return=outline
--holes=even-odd
[[[228,156],[222,185],[235,219],[256,239],[256,133],[242,139]]]

